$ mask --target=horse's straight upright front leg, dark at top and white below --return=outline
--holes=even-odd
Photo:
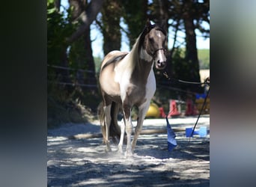
[[[131,147],[131,136],[132,136],[132,117],[131,117],[131,106],[124,104],[124,120],[125,120],[125,132],[127,132],[127,151],[125,153],[126,157],[132,156]]]

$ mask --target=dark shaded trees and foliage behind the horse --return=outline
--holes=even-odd
[[[150,19],[167,33],[170,29],[174,33],[168,34],[174,44],[168,49],[165,69],[171,78],[200,82],[199,70],[209,68],[209,49],[196,48],[195,34],[198,30],[203,37],[210,35],[203,26],[210,24],[209,0],[69,0],[67,8],[61,4],[61,0],[47,0],[49,127],[97,116],[101,101],[97,78],[102,59],[93,56],[92,24],[103,34],[106,55],[121,48],[122,34],[127,34],[131,47]],[[184,33],[185,43],[178,42],[178,32]],[[160,71],[155,70],[155,74],[157,91],[153,100],[159,105],[204,91],[200,86],[169,82]]]

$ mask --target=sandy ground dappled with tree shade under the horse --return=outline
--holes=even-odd
[[[172,129],[193,127],[197,117],[169,119]],[[135,123],[133,123],[135,126]],[[210,129],[210,116],[197,125]],[[146,119],[143,129],[164,129],[165,119]],[[140,135],[133,158],[125,159],[112,144],[105,152],[102,138],[69,138],[99,133],[98,121],[64,124],[47,136],[48,186],[210,186],[210,135],[186,138],[175,132],[178,146],[168,152],[167,134]],[[125,145],[124,145],[125,150]]]

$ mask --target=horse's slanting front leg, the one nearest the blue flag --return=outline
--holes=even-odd
[[[137,126],[135,128],[135,134],[134,134],[134,137],[133,137],[133,140],[132,140],[132,153],[133,153],[133,151],[135,149],[135,146],[137,144],[138,135],[141,133],[142,125],[143,125],[143,122],[144,122],[144,117],[147,113],[149,105],[150,105],[150,102],[138,107]]]

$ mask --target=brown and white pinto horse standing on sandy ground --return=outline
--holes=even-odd
[[[106,151],[112,151],[109,137],[118,138],[118,151],[123,153],[124,131],[127,134],[126,157],[132,156],[145,114],[156,91],[153,64],[162,70],[166,66],[165,30],[147,23],[130,52],[109,52],[100,67],[100,91],[103,104],[99,108],[100,126]],[[132,135],[132,106],[138,107],[137,126]],[[123,112],[124,123],[118,125],[118,112]]]

